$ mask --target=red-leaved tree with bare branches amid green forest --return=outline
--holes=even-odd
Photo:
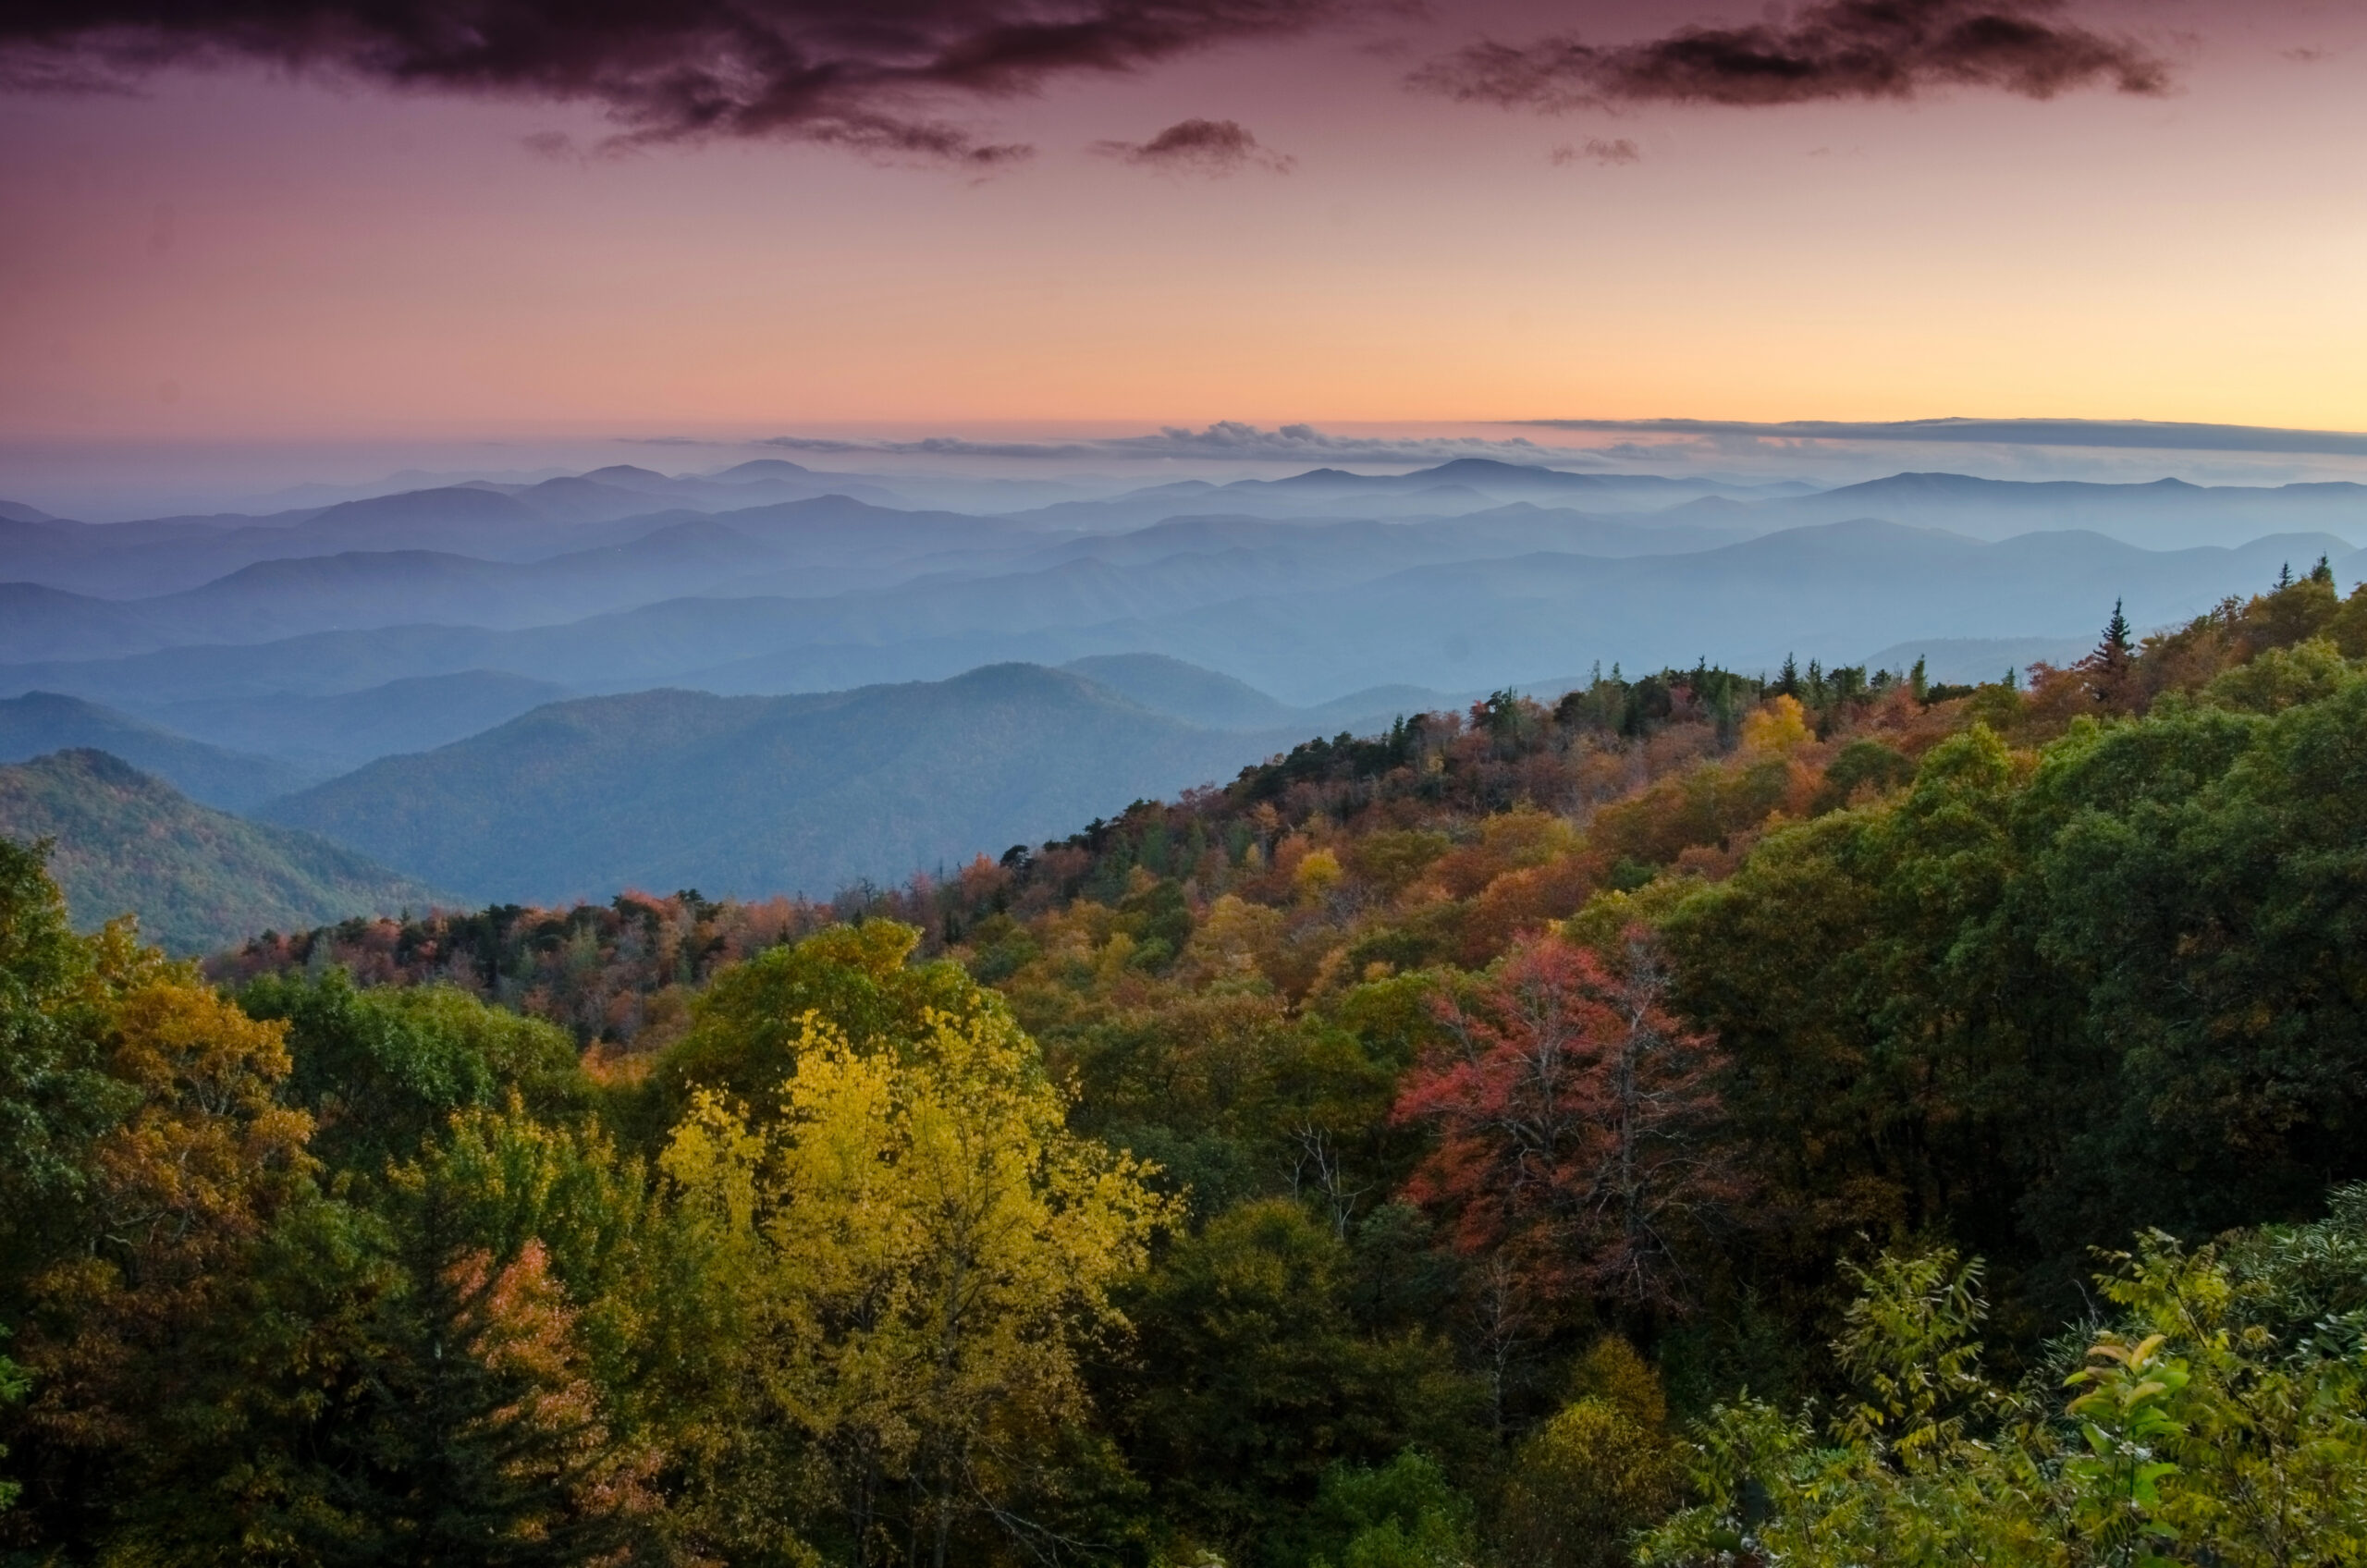
[[[1465,1253],[1510,1255],[1527,1289],[1685,1305],[1681,1244],[1744,1196],[1723,1158],[1709,1035],[1662,1007],[1645,933],[1617,964],[1557,936],[1522,943],[1458,1007],[1451,1045],[1406,1075],[1397,1120],[1437,1125],[1408,1184]]]

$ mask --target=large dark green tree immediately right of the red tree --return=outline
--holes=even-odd
[[[1794,1253],[1806,1293],[1858,1232],[2012,1246],[2057,1118],[2095,1108],[2033,1082],[2076,1004],[2007,917],[2026,777],[1974,725],[1903,793],[1771,831],[1659,921],[1673,1007],[1733,1061],[1759,1234],[1815,1255]]]

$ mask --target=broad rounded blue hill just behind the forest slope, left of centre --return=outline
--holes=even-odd
[[[639,692],[381,758],[267,815],[473,898],[831,895],[1068,831],[1290,739],[1186,725],[1039,666],[819,696]]]

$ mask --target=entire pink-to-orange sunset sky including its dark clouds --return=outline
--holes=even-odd
[[[769,76],[556,0],[421,12],[457,43],[12,7],[0,493],[1214,422],[2367,429],[2367,7],[1898,0],[1929,26],[1868,43],[1879,2],[762,0]],[[2050,43],[1965,54],[1993,21]]]

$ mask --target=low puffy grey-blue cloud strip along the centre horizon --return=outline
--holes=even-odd
[[[1584,448],[1557,448],[1527,436],[1489,441],[1482,436],[1335,436],[1311,424],[1283,424],[1259,429],[1238,419],[1219,419],[1205,429],[1165,426],[1148,436],[1103,436],[1091,441],[966,441],[961,436],[928,436],[921,441],[850,441],[838,436],[774,436],[757,445],[788,452],[862,455],[881,457],[1134,457],[1179,460],[1219,457],[1233,462],[1382,462],[1382,464],[1434,464],[1456,457],[1494,457],[1498,462],[1524,462],[1531,467],[1593,467],[1595,452]]]

